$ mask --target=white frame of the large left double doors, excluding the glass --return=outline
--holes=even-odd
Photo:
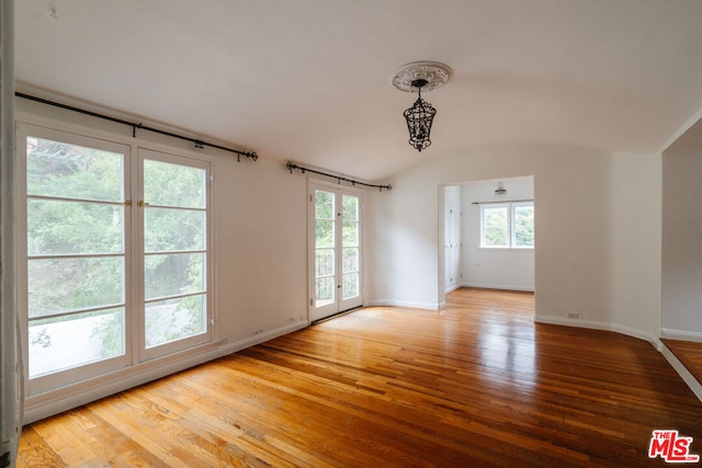
[[[27,136],[37,136],[42,138],[54,139],[57,141],[65,141],[67,144],[94,147],[98,149],[105,149],[113,152],[126,151],[124,160],[124,176],[125,187],[124,196],[127,201],[132,202],[132,210],[125,212],[125,272],[132,272],[131,277],[127,273],[125,284],[125,354],[116,357],[112,357],[104,361],[99,361],[91,364],[81,365],[67,370],[59,370],[56,373],[38,376],[36,378],[29,378],[29,372],[24,372],[24,390],[25,390],[25,410],[31,414],[37,412],[41,416],[53,414],[55,411],[47,410],[47,408],[54,408],[54,402],[61,400],[75,401],[71,393],[80,391],[82,393],[90,393],[90,388],[95,381],[102,383],[101,387],[103,392],[99,392],[100,396],[109,395],[114,391],[127,388],[131,385],[124,385],[124,381],[145,381],[160,376],[158,372],[155,373],[155,366],[168,366],[171,372],[180,370],[182,368],[190,367],[194,362],[204,362],[215,357],[214,350],[214,336],[217,335],[215,324],[215,300],[214,300],[214,219],[213,219],[213,205],[214,205],[214,191],[213,191],[213,178],[215,161],[210,156],[194,155],[190,151],[176,149],[170,146],[154,144],[150,141],[123,138],[120,135],[112,133],[95,130],[90,127],[83,127],[82,125],[67,124],[64,122],[57,122],[50,118],[36,117],[34,115],[20,114],[16,124],[16,178],[15,178],[15,193],[18,195],[18,213],[16,213],[16,264],[18,264],[18,310],[20,311],[20,326],[22,334],[25,339],[22,342],[22,357],[23,363],[26,366],[29,363],[29,346],[26,343],[26,336],[29,333],[29,318],[27,318],[27,209],[26,209],[26,147],[23,141]],[[136,226],[140,222],[138,217],[138,208],[136,206],[138,201],[137,187],[138,169],[137,159],[139,150],[150,150],[154,152],[160,152],[168,155],[171,161],[176,162],[178,159],[189,160],[193,167],[200,167],[207,170],[207,207],[208,213],[206,218],[206,307],[207,307],[207,331],[206,333],[195,335],[192,339],[181,340],[180,344],[166,343],[162,346],[155,347],[154,352],[143,353],[140,352],[143,342],[143,331],[140,330],[140,321],[143,321],[143,313],[137,311],[139,304],[143,304],[143,294],[139,290],[143,289],[143,267],[139,269],[141,261],[139,260],[140,248],[138,248],[139,230]],[[143,256],[143,255],[141,255]],[[136,262],[136,265],[135,265]],[[23,279],[22,279],[23,278]],[[139,284],[141,282],[141,284]],[[202,357],[199,357],[202,356]],[[159,364],[152,364],[154,361],[159,361]],[[178,364],[182,362],[183,364]],[[141,377],[141,376],[151,377]],[[113,390],[107,390],[107,388]],[[92,395],[92,393],[90,393]],[[98,395],[98,393],[95,393]],[[83,400],[80,400],[83,401]],[[87,401],[87,400],[84,400]],[[73,403],[69,403],[73,406]],[[55,407],[63,408],[66,407]],[[45,413],[43,411],[49,411]],[[25,412],[27,414],[27,412]],[[33,416],[29,416],[33,418]]]

